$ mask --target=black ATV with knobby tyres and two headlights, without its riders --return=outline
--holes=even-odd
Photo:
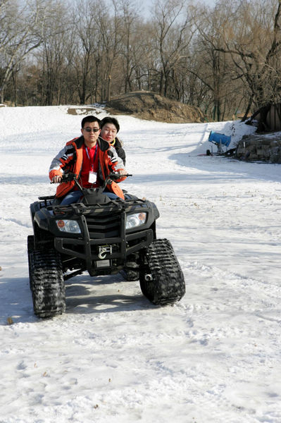
[[[176,302],[185,295],[185,279],[172,245],[156,239],[159,212],[153,202],[125,194],[110,200],[104,189],[119,175],[111,174],[101,188],[82,188],[81,202],[58,204],[55,196],[39,197],[30,205],[34,235],[27,237],[30,289],[38,317],[65,311],[65,284],[88,271],[90,276],[119,272],[139,279],[142,293],[155,305]]]

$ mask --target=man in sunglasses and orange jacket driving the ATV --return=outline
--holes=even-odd
[[[122,159],[118,157],[114,147],[99,137],[101,121],[96,116],[86,116],[81,122],[81,137],[66,143],[51,162],[49,178],[52,183],[60,183],[56,190],[56,199],[61,205],[79,202],[81,191],[74,180],[61,183],[63,174],[71,172],[80,177],[83,188],[98,188],[109,173],[119,173],[116,182],[125,180],[127,171]],[[115,200],[124,199],[123,191],[118,184],[110,181],[104,194]]]

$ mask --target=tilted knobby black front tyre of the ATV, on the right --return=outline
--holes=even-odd
[[[142,293],[155,305],[171,304],[185,295],[185,278],[170,241],[154,240],[144,250],[139,272]]]

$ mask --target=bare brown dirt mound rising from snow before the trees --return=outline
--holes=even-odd
[[[149,91],[136,91],[120,95],[120,97],[107,102],[105,108],[110,114],[130,114],[149,121],[204,122],[204,114],[198,107],[188,106]]]

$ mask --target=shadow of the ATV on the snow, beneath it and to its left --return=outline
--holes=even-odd
[[[86,275],[76,276],[71,283],[69,281],[65,283],[65,314],[125,312],[156,307],[144,298],[140,288],[139,293],[131,294],[133,290],[135,291],[135,283],[139,282],[125,282],[120,275],[96,278]],[[116,284],[118,292],[108,291],[108,287],[111,289],[113,284]],[[130,284],[132,289],[128,289],[127,284]],[[103,286],[107,290],[104,295],[102,295]],[[8,278],[6,281],[0,279],[0,298],[0,326],[8,324],[8,317],[13,319],[14,324],[38,321],[33,314],[28,278]]]

